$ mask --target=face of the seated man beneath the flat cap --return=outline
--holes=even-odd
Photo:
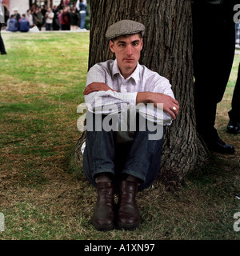
[[[116,55],[122,75],[134,72],[142,50],[142,38],[139,34],[120,36],[110,41],[110,50]]]

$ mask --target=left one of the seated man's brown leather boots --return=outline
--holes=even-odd
[[[92,222],[97,230],[114,228],[114,187],[112,182],[98,182],[98,198]]]

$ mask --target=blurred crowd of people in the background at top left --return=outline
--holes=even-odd
[[[19,14],[18,7],[13,8],[13,14],[6,19],[6,31],[10,32],[28,32],[37,30],[89,30],[89,13],[87,10],[87,1],[70,0],[61,1],[58,6],[46,7],[34,4],[26,10],[25,14]],[[87,23],[87,24],[86,24]]]

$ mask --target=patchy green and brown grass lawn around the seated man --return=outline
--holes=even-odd
[[[80,137],[89,33],[2,34],[0,55],[0,213],[6,239],[239,239],[240,135],[226,134],[240,54],[217,128],[236,154],[214,154],[212,166],[186,177],[175,193],[156,182],[138,194],[137,230],[98,232],[91,225],[96,192],[71,169]]]

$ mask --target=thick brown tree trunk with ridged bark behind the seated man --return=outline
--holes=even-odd
[[[178,186],[185,175],[209,162],[210,155],[196,133],[194,75],[192,61],[192,18],[190,0],[91,0],[89,68],[114,58],[105,34],[122,19],[146,26],[140,64],[170,80],[180,110],[168,127],[159,177],[166,185]],[[75,157],[81,165],[78,140]]]

